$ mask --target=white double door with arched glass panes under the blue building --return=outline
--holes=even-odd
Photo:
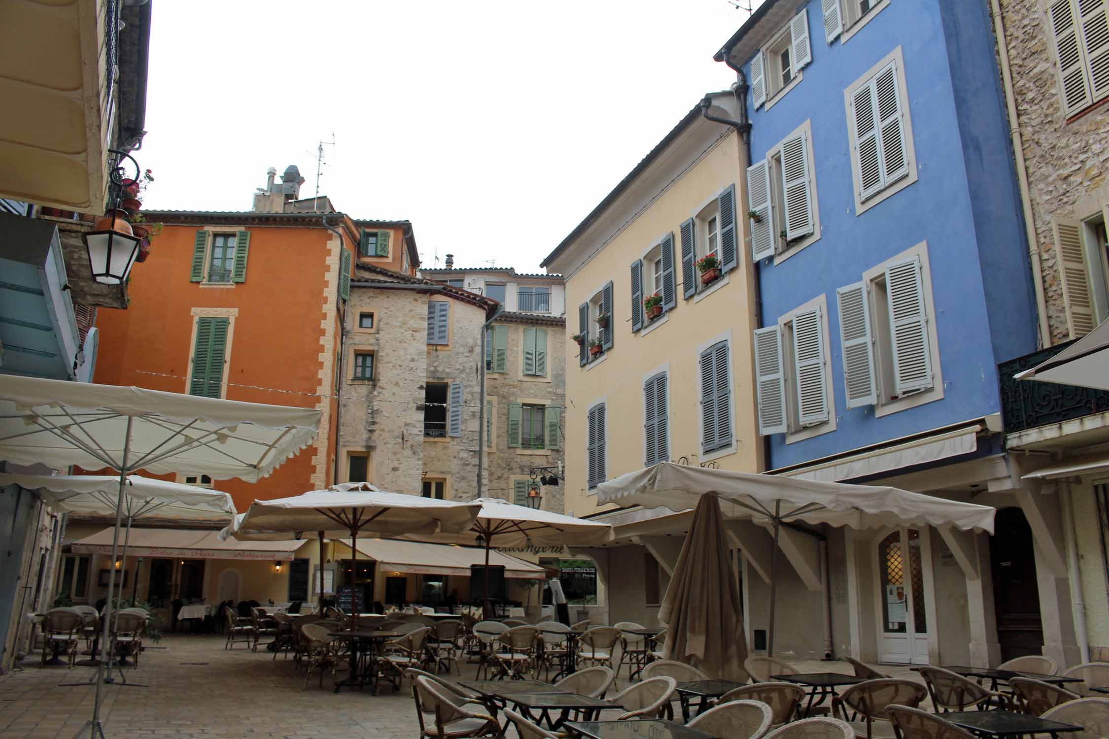
[[[877,543],[882,619],[878,660],[928,664],[928,617],[924,599],[920,532],[898,528]]]

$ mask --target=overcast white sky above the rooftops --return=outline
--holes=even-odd
[[[746,0],[741,0],[745,4]],[[755,0],[759,4],[759,0]],[[362,218],[409,218],[425,266],[539,263],[701,99],[729,0],[161,0],[146,207],[248,211],[296,164]]]

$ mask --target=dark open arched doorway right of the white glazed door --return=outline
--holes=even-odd
[[[1003,660],[1044,654],[1032,546],[1032,530],[1025,512],[1018,507],[998,511],[989,540],[989,564]]]

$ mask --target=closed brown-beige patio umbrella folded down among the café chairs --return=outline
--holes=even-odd
[[[723,522],[716,495],[702,495],[659,618],[668,627],[667,659],[688,663],[714,678],[746,682],[747,639]]]

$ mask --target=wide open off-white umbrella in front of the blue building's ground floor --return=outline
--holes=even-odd
[[[684,511],[715,493],[725,519],[751,519],[773,530],[770,628],[766,653],[774,654],[777,540],[783,523],[803,521],[852,528],[891,525],[955,526],[994,533],[995,509],[948,501],[897,487],[794,480],[660,462],[597,486],[598,503]]]

